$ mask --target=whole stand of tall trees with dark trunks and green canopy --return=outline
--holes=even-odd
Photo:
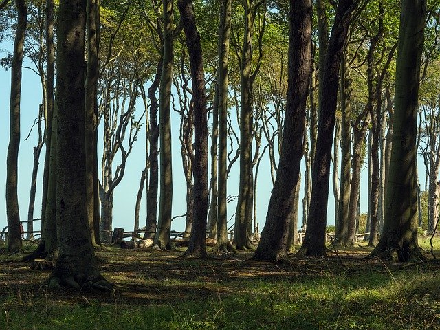
[[[298,221],[307,224],[299,253],[325,255],[328,216],[336,218],[335,245],[353,245],[364,163],[373,254],[423,259],[417,245],[423,222],[418,153],[426,166],[429,232],[439,218],[439,3],[175,4],[2,2],[1,38],[10,33],[14,39],[13,54],[1,61],[11,68],[13,87],[8,250],[22,244],[17,155],[21,67],[28,56],[43,90],[28,219],[43,144],[46,151],[41,243],[29,259],[57,260],[51,285],[108,287],[94,247],[110,243],[113,192],[141,129],[146,159],[135,230],[146,186],[145,238],[159,249],[173,248],[171,135],[178,133],[186,180],[185,256],[207,255],[206,232],[216,240],[216,251],[255,248],[256,183],[268,155],[273,188],[254,259],[287,261]],[[179,132],[171,131],[172,111],[181,118]],[[239,191],[230,242],[227,183],[235,162]],[[327,214],[330,181],[334,215]]]

